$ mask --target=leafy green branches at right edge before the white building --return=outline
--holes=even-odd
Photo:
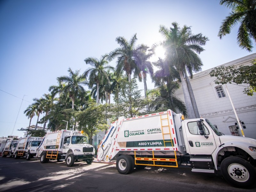
[[[214,80],[215,84],[248,84],[249,86],[245,87],[243,92],[252,96],[256,92],[256,60],[251,63],[252,65],[250,66],[220,66],[213,68],[210,76],[217,77]]]

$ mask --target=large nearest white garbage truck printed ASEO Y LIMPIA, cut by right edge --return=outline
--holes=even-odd
[[[186,165],[192,172],[221,171],[239,188],[252,188],[256,180],[256,140],[224,135],[207,119],[184,120],[171,110],[113,122],[97,153],[98,162],[112,160],[121,174]]]

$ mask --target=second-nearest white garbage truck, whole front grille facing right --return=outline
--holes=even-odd
[[[46,133],[44,140],[38,148],[37,157],[41,163],[49,160],[66,161],[68,167],[75,161],[83,160],[91,164],[95,155],[95,149],[88,144],[88,139],[83,132],[60,130]]]

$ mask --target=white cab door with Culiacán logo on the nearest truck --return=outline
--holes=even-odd
[[[191,155],[211,155],[216,149],[216,143],[210,127],[207,127],[205,122],[201,121],[201,129],[203,128],[204,135],[200,134],[200,125],[198,122],[184,120],[185,131],[187,136],[187,146]],[[186,142],[186,141],[185,141]]]

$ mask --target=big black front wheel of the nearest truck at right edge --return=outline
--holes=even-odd
[[[227,157],[221,164],[223,177],[237,188],[253,188],[255,186],[256,172],[254,167],[240,157]]]

